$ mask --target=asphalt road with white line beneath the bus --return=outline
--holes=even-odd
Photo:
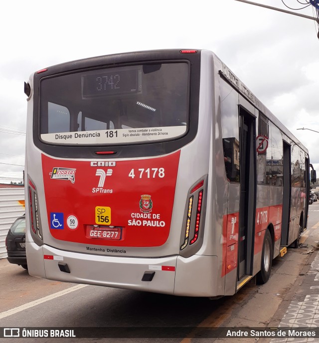
[[[296,280],[318,245],[319,201],[310,206],[302,247],[288,249],[273,263],[270,280],[262,286],[246,285],[236,295],[219,300],[61,283],[33,278],[20,266],[0,260],[0,327],[141,328],[148,338],[100,338],[99,342],[198,342],[193,329],[178,338],[158,338],[167,327],[265,327],[293,292]],[[316,231],[317,230],[317,231]],[[296,287],[296,285],[295,285]],[[151,329],[144,329],[151,328]],[[151,331],[150,331],[151,330]],[[158,334],[158,336],[157,336]],[[116,337],[116,335],[118,335]],[[154,337],[150,337],[150,336]],[[125,335],[124,335],[125,336]],[[142,335],[143,336],[143,335]],[[165,336],[165,335],[164,335]],[[21,343],[21,339],[0,339]],[[79,339],[28,339],[27,342],[79,342]],[[97,339],[80,339],[97,342]],[[201,343],[212,342],[201,339]],[[227,340],[231,343],[232,340]],[[238,341],[234,341],[238,342]],[[246,342],[246,341],[245,341]],[[247,342],[254,342],[247,341]]]

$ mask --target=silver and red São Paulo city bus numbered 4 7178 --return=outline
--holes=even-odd
[[[24,87],[30,275],[214,298],[298,246],[308,150],[213,52],[82,59]]]

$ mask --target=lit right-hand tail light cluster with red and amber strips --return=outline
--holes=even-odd
[[[190,194],[198,191],[200,188],[204,186],[204,180],[200,181],[195,187],[192,188],[190,191]],[[189,241],[189,233],[191,230],[191,214],[192,214],[192,208],[193,208],[193,203],[194,203],[194,197],[196,198],[196,195],[192,195],[188,199],[188,209],[187,209],[187,214],[186,214],[186,228],[185,228],[185,237],[184,237],[184,243],[181,245],[180,250],[183,250],[188,242],[189,245],[194,244],[199,235],[199,225],[200,225],[200,215],[201,215],[201,210],[202,210],[202,203],[203,203],[203,189],[201,189],[198,192],[198,198],[197,198],[197,207],[196,207],[196,218],[195,218],[195,225],[194,225],[194,234],[193,238],[190,239]]]

